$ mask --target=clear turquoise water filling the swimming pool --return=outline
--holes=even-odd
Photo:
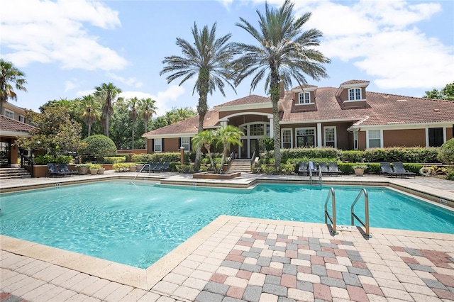
[[[1,195],[0,233],[146,268],[223,214],[323,223],[329,188],[260,184],[237,190],[103,181],[23,191]],[[338,224],[350,225],[350,205],[360,187],[334,188]],[[453,211],[383,187],[367,191],[371,227],[454,233]],[[364,217],[362,201],[356,208]]]

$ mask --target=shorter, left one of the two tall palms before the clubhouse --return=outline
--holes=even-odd
[[[221,91],[223,96],[224,86],[227,83],[235,91],[231,84],[231,62],[235,51],[228,39],[231,34],[224,35],[216,39],[216,23],[214,23],[211,30],[208,26],[204,26],[199,30],[194,23],[192,28],[192,36],[194,43],[189,43],[187,40],[177,38],[177,45],[181,47],[183,57],[172,55],[165,57],[162,61],[167,64],[160,74],[170,73],[167,76],[167,83],[175,79],[182,78],[179,85],[186,82],[192,77],[197,77],[192,92],[199,93],[199,103],[197,105],[197,112],[199,113],[199,128],[198,132],[204,130],[204,118],[208,106],[206,103],[208,94],[213,94],[216,88]],[[196,150],[196,160],[194,167],[199,169],[201,159],[201,146]]]

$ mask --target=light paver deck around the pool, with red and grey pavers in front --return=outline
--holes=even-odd
[[[128,178],[135,173],[121,174]],[[0,181],[1,191],[118,178],[116,173]],[[200,181],[184,174],[140,180],[243,186],[306,177],[243,174]],[[453,202],[453,181],[324,177],[324,184],[382,184]],[[15,189],[16,188],[16,189]],[[0,237],[0,301],[454,301],[454,235],[220,216],[148,269]],[[16,299],[16,300],[14,300]]]

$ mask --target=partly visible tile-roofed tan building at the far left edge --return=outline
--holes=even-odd
[[[26,121],[26,111],[11,103],[3,104],[0,114],[0,167],[15,167],[18,162],[17,138],[29,136],[35,127]]]

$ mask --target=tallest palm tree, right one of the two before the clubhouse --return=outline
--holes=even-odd
[[[306,84],[304,74],[319,80],[328,77],[322,63],[330,60],[313,47],[319,45],[322,33],[316,29],[302,31],[302,26],[309,20],[311,13],[295,19],[290,0],[285,0],[280,9],[270,9],[265,3],[265,15],[257,11],[259,29],[254,28],[244,18],[236,26],[243,28],[257,40],[258,45],[236,43],[236,50],[242,57],[234,62],[236,65],[236,82],[240,82],[253,74],[251,91],[262,79],[265,79],[265,91],[269,91],[272,101],[273,130],[275,140],[275,167],[281,162],[279,101],[280,81],[288,89],[292,78],[299,85]]]

